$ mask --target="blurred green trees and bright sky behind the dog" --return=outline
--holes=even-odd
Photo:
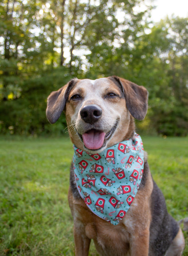
[[[61,135],[64,116],[46,118],[50,92],[110,75],[148,89],[138,131],[188,134],[187,0],[3,0],[0,55],[1,134]]]

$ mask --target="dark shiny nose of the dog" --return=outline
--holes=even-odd
[[[88,105],[80,110],[80,116],[86,123],[94,124],[102,116],[102,109],[97,105]]]

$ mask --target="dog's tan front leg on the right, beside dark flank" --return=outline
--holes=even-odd
[[[148,256],[150,231],[135,232],[131,237],[131,256]]]

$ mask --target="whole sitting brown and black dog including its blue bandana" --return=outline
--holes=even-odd
[[[48,121],[55,123],[64,111],[74,144],[68,201],[74,221],[76,256],[88,255],[91,239],[102,256],[180,256],[183,253],[183,232],[167,212],[163,194],[151,176],[147,153],[143,152],[142,142],[135,133],[134,118],[144,119],[147,106],[147,90],[117,76],[72,79],[47,98]],[[130,144],[124,147],[123,142]],[[135,155],[131,153],[128,158],[130,150]],[[124,156],[121,161],[119,153]],[[139,155],[142,153],[143,158]],[[104,158],[104,167],[108,168],[96,162],[99,158]],[[132,170],[134,161],[138,170]],[[132,182],[126,185],[123,179],[128,172],[127,181]],[[80,176],[84,174],[86,178]],[[82,189],[85,189],[83,193]],[[128,197],[131,190],[132,195]],[[94,196],[95,202],[91,199]],[[105,204],[111,205],[113,211],[105,213]],[[126,207],[128,210],[120,211]]]

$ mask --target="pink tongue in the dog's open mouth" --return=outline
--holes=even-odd
[[[99,149],[103,146],[105,133],[89,131],[89,133],[82,134],[84,145],[88,149]]]

